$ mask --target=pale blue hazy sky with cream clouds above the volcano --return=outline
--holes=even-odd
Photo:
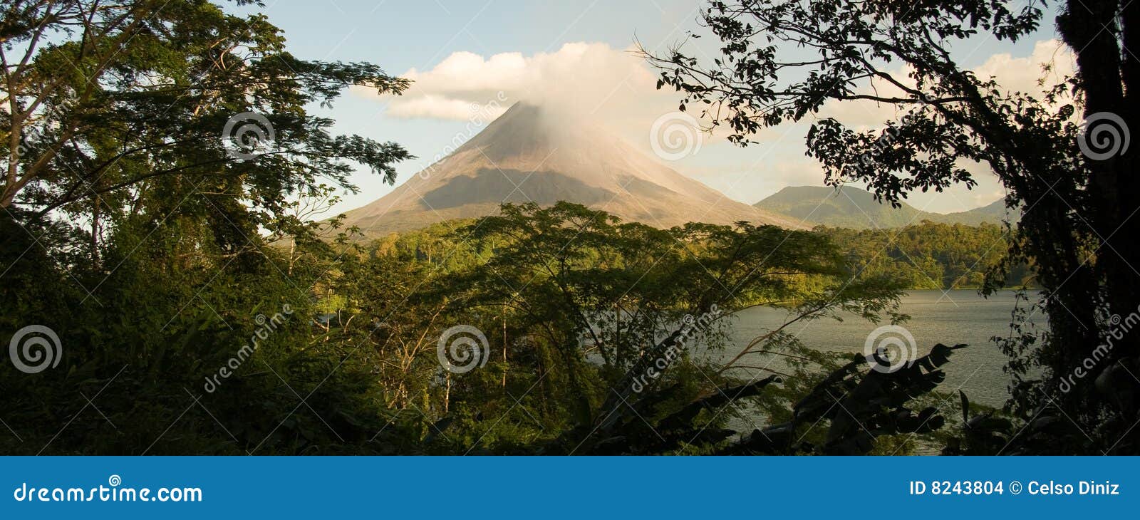
[[[263,11],[285,31],[290,50],[304,59],[367,60],[416,82],[402,97],[353,90],[327,115],[336,130],[402,144],[418,160],[398,166],[402,182],[470,137],[473,103],[505,109],[518,100],[557,104],[597,117],[633,145],[652,153],[651,127],[676,111],[679,97],[653,88],[654,73],[629,49],[640,41],[665,51],[689,31],[705,35],[685,48],[711,56],[715,39],[697,24],[705,2],[670,0],[513,1],[267,0]],[[1019,2],[1011,2],[1019,3]],[[1058,51],[1051,17],[1043,31],[1010,44],[992,38],[955,49],[964,66],[995,75],[1003,84],[1036,89],[1040,64],[1070,70]],[[502,103],[498,99],[503,99]],[[826,115],[852,125],[877,128],[888,107],[837,106]],[[728,197],[755,203],[781,187],[823,185],[819,165],[804,156],[806,124],[768,129],[762,144],[739,148],[723,136],[703,136],[699,152],[669,162]],[[477,129],[478,130],[478,129]],[[665,162],[665,161],[662,161]],[[910,203],[927,211],[980,206],[1003,192],[978,169],[971,192],[914,194]],[[364,205],[392,189],[366,170],[353,177],[361,188],[336,211]],[[862,187],[862,186],[860,186]]]

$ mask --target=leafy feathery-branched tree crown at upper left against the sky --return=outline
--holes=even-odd
[[[105,221],[147,210],[249,231],[321,180],[355,189],[353,162],[392,182],[392,164],[409,157],[334,136],[332,120],[307,111],[349,86],[399,94],[407,80],[298,59],[262,15],[205,0],[19,0],[3,8],[0,35],[0,208],[24,221],[84,216],[92,244]]]

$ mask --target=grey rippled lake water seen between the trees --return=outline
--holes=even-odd
[[[952,346],[968,343],[970,347],[955,350],[950,363],[943,366],[946,381],[940,390],[955,392],[961,388],[974,403],[1001,406],[1009,397],[1007,384],[1009,376],[1002,372],[1007,357],[992,341],[993,336],[1010,334],[1010,312],[1016,300],[1012,291],[1002,291],[990,298],[980,296],[975,290],[911,291],[902,299],[901,311],[911,319],[902,323],[914,336],[919,356],[930,351],[936,343]],[[1024,306],[1025,302],[1023,301]],[[771,308],[752,308],[738,312],[733,322],[733,344],[741,348],[748,341],[780,326],[787,318],[787,311]],[[1037,317],[1037,325],[1044,324],[1044,318]],[[879,324],[881,325],[881,324]],[[795,334],[805,346],[820,350],[838,352],[863,352],[868,335],[879,325],[856,316],[845,317],[842,322],[817,319],[808,323],[797,323],[785,331]],[[724,352],[714,355],[723,360],[731,359],[736,351],[731,347]],[[752,355],[744,364],[769,366],[781,369],[785,366],[780,359],[767,355]],[[771,363],[771,365],[766,365]],[[749,376],[762,374],[748,368],[736,373],[748,372]],[[783,371],[781,371],[783,372]],[[763,373],[766,376],[768,373]]]

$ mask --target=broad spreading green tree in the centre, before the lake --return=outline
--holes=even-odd
[[[711,447],[732,433],[718,426],[731,415],[719,411],[774,381],[750,377],[750,371],[775,372],[755,360],[798,344],[788,332],[792,325],[902,317],[895,312],[897,283],[858,276],[821,233],[746,222],[654,229],[567,202],[506,204],[502,216],[458,233],[494,255],[442,284],[457,307],[510,309],[515,335],[553,350],[555,363],[538,372],[556,383],[540,391],[565,392],[557,397],[575,420],[554,441],[555,452]],[[784,309],[788,317],[746,346],[727,344],[725,318],[756,306]],[[722,349],[728,350],[725,359],[708,354]],[[847,375],[857,380],[865,366],[860,357]],[[658,430],[646,430],[645,420]]]

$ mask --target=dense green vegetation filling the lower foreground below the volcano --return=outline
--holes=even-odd
[[[862,429],[828,434],[836,417],[821,403],[845,392],[821,393],[816,385],[886,375],[862,357],[805,349],[782,330],[754,344],[727,343],[719,319],[755,304],[787,309],[789,324],[853,312],[897,317],[899,279],[863,269],[828,233],[662,230],[560,203],[507,205],[502,217],[370,244],[348,238],[270,245],[254,235],[256,249],[236,260],[198,254],[206,265],[108,250],[105,258],[121,265],[90,296],[82,284],[101,273],[82,259],[62,266],[24,241],[24,258],[6,260],[6,276],[19,283],[6,285],[5,296],[26,304],[6,318],[51,324],[65,356],[60,369],[39,374],[6,367],[2,389],[11,398],[0,413],[19,434],[5,438],[6,452],[864,453],[877,446],[861,438]],[[666,375],[630,380],[662,356],[686,316],[709,318],[668,358]],[[439,360],[441,331],[454,325],[486,334],[487,358],[466,373]],[[246,346],[252,350],[243,356]],[[698,348],[736,356],[717,365],[694,356]],[[773,365],[781,356],[792,363]],[[940,363],[945,355],[915,369],[937,379]],[[784,369],[792,373],[782,388],[765,391]],[[762,411],[748,421],[776,424],[771,434],[732,437],[725,424],[741,414],[738,400]],[[878,445],[883,453],[915,441],[890,434],[942,424],[940,416],[931,421],[934,408],[898,424],[909,401],[863,411],[864,421],[894,414],[877,430],[890,439]],[[797,403],[807,415],[788,415]]]

